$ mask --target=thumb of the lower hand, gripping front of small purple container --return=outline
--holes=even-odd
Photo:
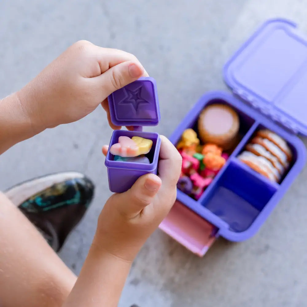
[[[126,192],[114,194],[113,205],[119,212],[134,218],[146,206],[152,203],[154,196],[161,187],[161,179],[154,174],[146,174],[134,183]]]

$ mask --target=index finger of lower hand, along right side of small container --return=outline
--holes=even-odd
[[[182,157],[175,146],[165,136],[161,135],[160,161],[158,164],[159,177],[163,186],[176,187],[182,165]]]

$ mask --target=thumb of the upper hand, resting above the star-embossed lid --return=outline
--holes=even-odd
[[[103,99],[111,95],[114,91],[138,80],[143,76],[145,70],[141,64],[133,61],[122,62],[111,68],[100,76],[94,77],[98,86],[102,89]]]

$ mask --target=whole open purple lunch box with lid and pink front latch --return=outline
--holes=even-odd
[[[239,145],[199,200],[177,190],[177,200],[160,228],[203,256],[218,236],[243,241],[253,236],[305,165],[306,148],[297,134],[307,135],[307,40],[290,21],[265,22],[230,58],[223,70],[233,94],[204,94],[174,131],[173,144],[187,128],[197,131],[205,106],[223,103],[240,118]],[[238,160],[258,129],[267,128],[286,140],[293,152],[280,183]]]

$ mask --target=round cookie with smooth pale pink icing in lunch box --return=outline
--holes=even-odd
[[[198,134],[202,142],[230,149],[239,131],[239,116],[224,104],[205,107],[198,118]]]

